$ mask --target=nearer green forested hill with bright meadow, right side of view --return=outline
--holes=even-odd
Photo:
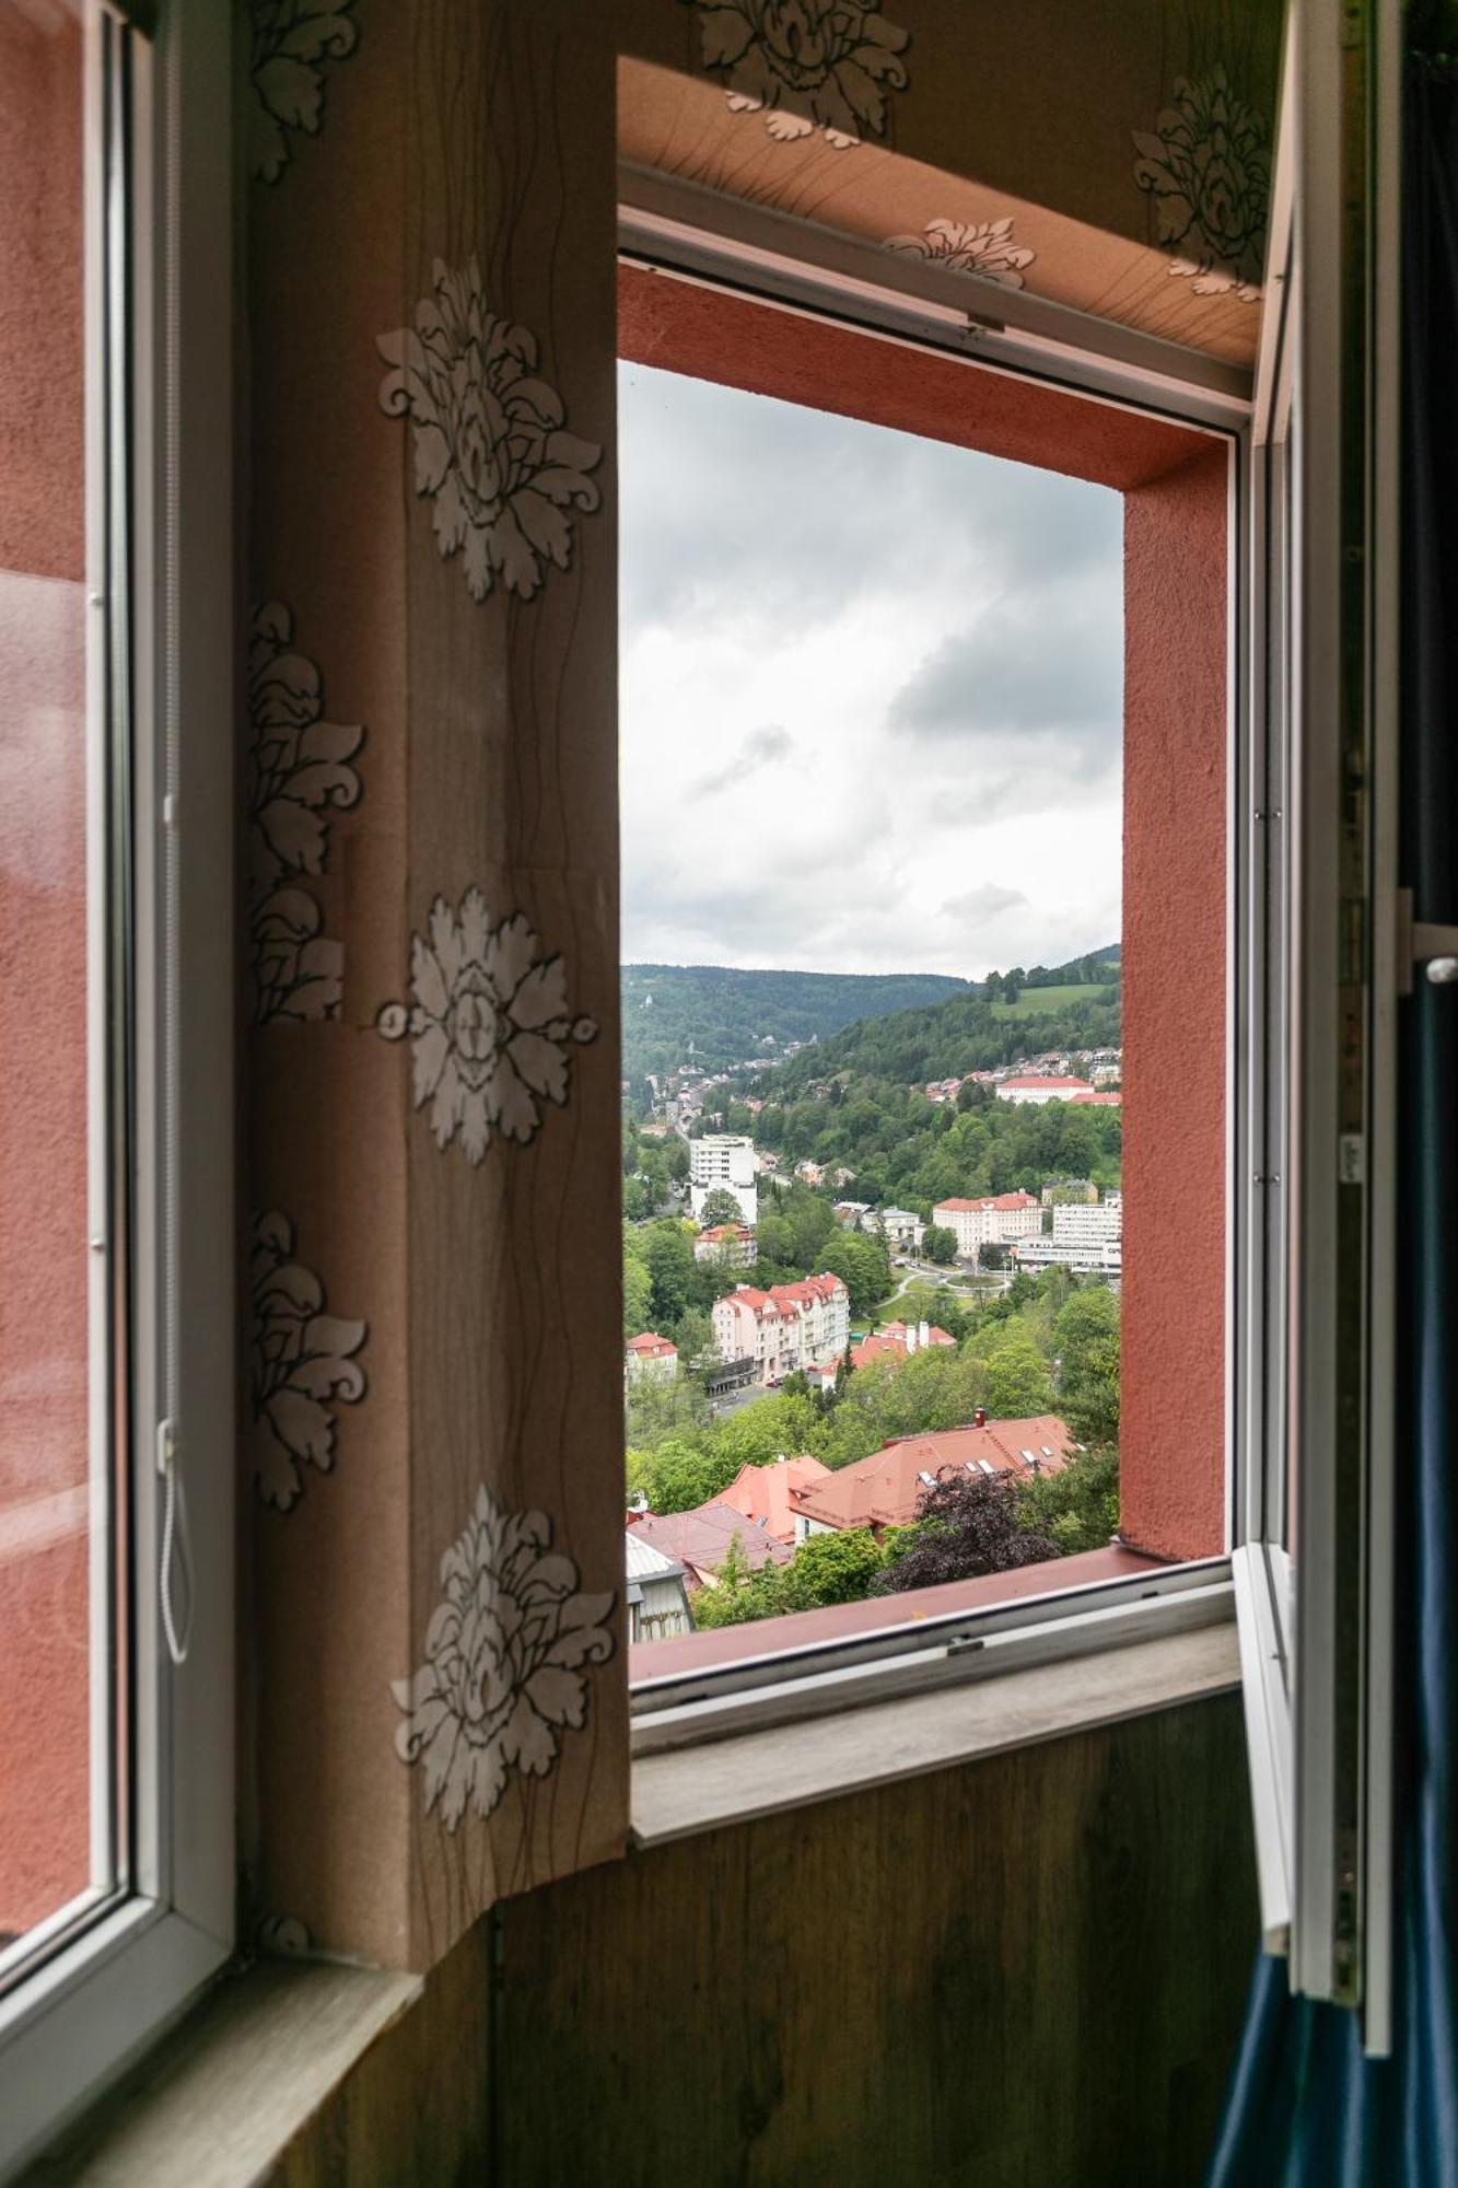
[[[1119,980],[1022,987],[1014,1002],[981,989],[887,1017],[863,1017],[775,1072],[775,1098],[847,1076],[924,1085],[990,1072],[1046,1048],[1116,1048]]]

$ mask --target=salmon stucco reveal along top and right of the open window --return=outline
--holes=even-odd
[[[1224,1547],[1224,442],[622,267],[620,352],[1125,494],[1121,1534]]]

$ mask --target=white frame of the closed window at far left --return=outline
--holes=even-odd
[[[0,1995],[0,2179],[234,1943],[232,22],[223,0],[166,0],[149,39],[127,13],[142,11],[85,11],[92,83],[107,42],[131,70],[125,158],[116,133],[103,151],[96,92],[88,109],[88,687],[109,715],[92,750],[118,737],[131,757],[134,1127],[92,1195],[96,1258],[125,1271],[131,1311],[123,1510],[99,1553],[125,1543],[123,1884]],[[186,1628],[180,1665],[160,1586]],[[101,1713],[94,1737],[112,1739]]]

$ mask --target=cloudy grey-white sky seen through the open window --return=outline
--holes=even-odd
[[[620,365],[626,963],[1119,934],[1121,497]]]

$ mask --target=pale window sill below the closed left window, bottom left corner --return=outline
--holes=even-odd
[[[423,1991],[328,1960],[258,1960],[208,1998],[26,2179],[252,2188]]]

